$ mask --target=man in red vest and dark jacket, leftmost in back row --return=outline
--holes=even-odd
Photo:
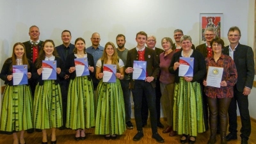
[[[38,58],[39,56],[39,52],[40,52],[40,49],[42,48],[43,41],[39,40],[40,31],[37,26],[31,26],[29,28],[28,35],[30,36],[30,40],[27,42],[23,42],[22,44],[25,45],[27,58],[33,61],[34,63],[36,58]],[[36,81],[31,79],[29,81],[29,86],[31,88],[32,97],[34,97],[34,93],[36,89]],[[41,132],[42,130],[36,129],[36,131]],[[34,129],[28,129],[27,132],[32,133],[34,132]]]

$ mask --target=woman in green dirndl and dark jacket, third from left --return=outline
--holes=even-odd
[[[89,76],[77,76],[75,59],[81,58],[88,61]],[[74,53],[67,56],[65,71],[69,75],[67,99],[67,122],[66,127],[76,130],[75,140],[85,140],[84,129],[95,126],[95,112],[93,101],[94,61],[92,54],[85,52],[85,41],[77,38]]]

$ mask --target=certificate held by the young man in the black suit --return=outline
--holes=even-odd
[[[133,61],[132,79],[146,79],[147,61]]]

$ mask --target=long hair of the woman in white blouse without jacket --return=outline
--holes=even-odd
[[[108,61],[108,54],[107,54],[107,52],[106,52],[106,49],[107,49],[108,45],[112,45],[112,47],[114,48],[114,54],[113,54],[113,56],[112,56],[112,58],[111,58],[111,60],[112,60],[112,61],[111,61],[111,64],[112,64],[112,65],[116,65],[117,69],[119,69],[119,63],[118,63],[119,57],[118,57],[118,54],[117,54],[117,52],[116,52],[115,44],[113,44],[113,42],[107,42],[107,44],[105,45],[105,48],[104,48],[104,52],[103,52],[103,54],[102,54],[102,57],[101,57],[100,59],[103,60],[104,63],[107,63],[107,61]],[[103,63],[102,63],[102,65],[103,65]]]

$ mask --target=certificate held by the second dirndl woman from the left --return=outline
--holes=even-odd
[[[48,80],[48,79],[57,79],[57,61],[44,61],[42,63],[42,79]]]

